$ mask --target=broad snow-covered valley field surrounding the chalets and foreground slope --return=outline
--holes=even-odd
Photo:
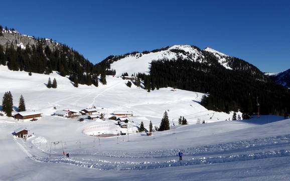
[[[46,88],[48,77],[56,78],[57,89]],[[43,112],[41,119],[27,122],[0,116],[0,180],[290,180],[289,119],[261,116],[225,121],[232,115],[199,104],[202,93],[171,88],[148,93],[134,85],[128,88],[125,80],[111,76],[107,85],[75,88],[57,73],[29,76],[2,66],[0,82],[0,97],[11,91],[17,107],[22,94],[28,110]],[[96,135],[126,132],[108,119],[79,122],[51,116],[56,111],[53,107],[92,106],[107,118],[115,110],[133,111],[129,135],[84,133],[90,128]],[[140,121],[147,128],[150,120],[159,126],[165,110],[171,125],[177,125],[180,115],[190,124],[152,136],[135,132]],[[207,123],[196,124],[197,120]],[[12,135],[21,127],[32,135],[26,141]],[[184,152],[183,161],[178,160],[179,150]]]

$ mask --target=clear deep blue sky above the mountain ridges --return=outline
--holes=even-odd
[[[168,45],[211,47],[261,71],[290,68],[289,1],[3,1],[0,24],[97,63]]]

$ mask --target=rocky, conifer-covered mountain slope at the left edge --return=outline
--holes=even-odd
[[[67,45],[51,39],[22,35],[14,29],[0,26],[0,65],[7,65],[13,71],[26,71],[70,76],[75,83],[95,86],[97,76],[105,69],[93,65],[81,54]],[[109,74],[110,72],[107,71]]]

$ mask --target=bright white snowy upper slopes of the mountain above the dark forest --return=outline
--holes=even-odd
[[[206,48],[204,51],[213,53],[219,60],[219,63],[227,69],[232,69],[229,67],[226,57],[229,57],[223,53],[220,53],[214,49]],[[195,46],[191,45],[174,45],[169,47],[167,50],[161,50],[158,52],[137,53],[128,55],[111,64],[111,69],[116,70],[116,76],[120,76],[122,73],[127,72],[129,75],[133,73],[149,73],[150,63],[153,60],[159,59],[177,59],[181,57],[183,59],[189,59],[194,62],[206,63],[204,56]]]

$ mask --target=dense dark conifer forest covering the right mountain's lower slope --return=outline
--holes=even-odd
[[[290,111],[290,92],[253,71],[248,64],[238,64],[238,68],[228,70],[215,57],[208,55],[210,64],[202,64],[187,59],[155,60],[151,63],[150,75],[137,74],[143,80],[144,89],[149,92],[162,87],[208,93],[201,105],[215,111],[238,111],[243,117],[257,113],[286,115]],[[244,68],[242,68],[244,66]]]

